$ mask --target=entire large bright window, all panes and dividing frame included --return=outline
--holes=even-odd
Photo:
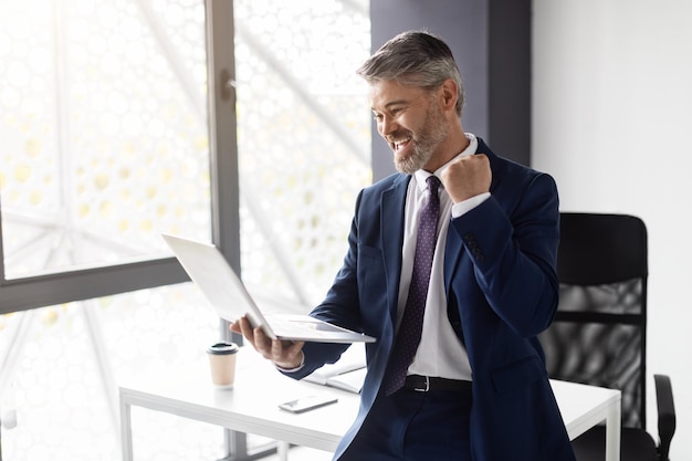
[[[0,0],[7,459],[116,460],[117,385],[206,358],[218,318],[161,232],[214,241],[270,310],[319,300],[370,181],[368,10]],[[135,418],[143,459],[222,449],[205,425]]]

